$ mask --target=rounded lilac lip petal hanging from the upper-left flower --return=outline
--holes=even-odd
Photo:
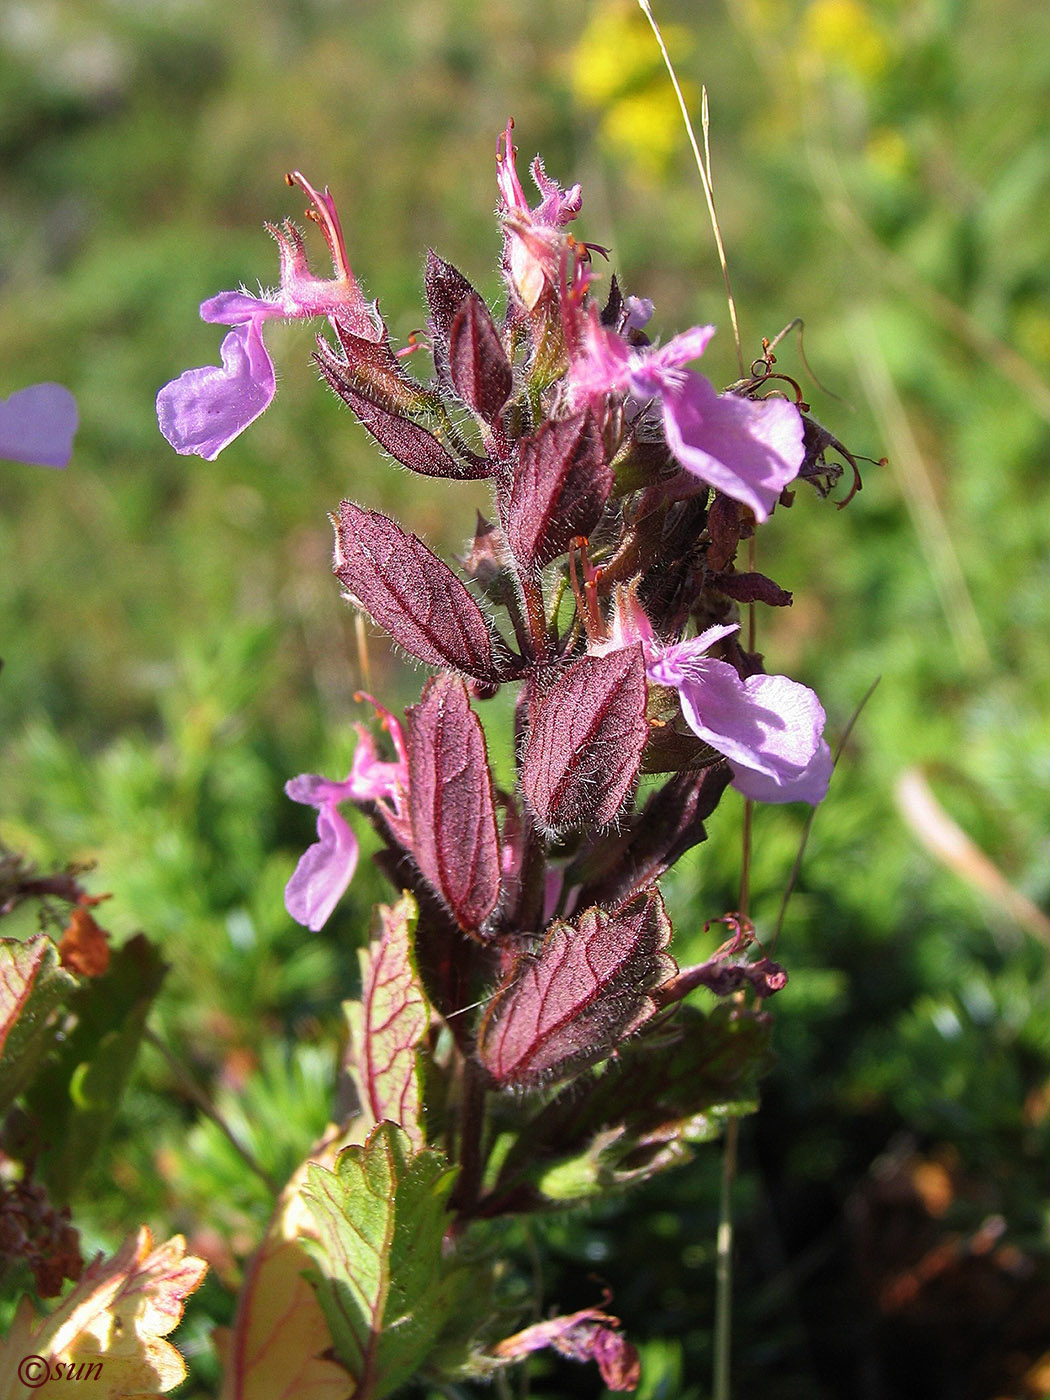
[[[214,462],[273,400],[277,381],[259,319],[235,326],[221,356],[221,370],[186,370],[157,395],[161,433],[183,456],[196,452]]]

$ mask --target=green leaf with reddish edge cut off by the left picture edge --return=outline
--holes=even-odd
[[[20,942],[0,938],[0,1114],[27,1088],[55,1044],[52,1012],[77,979],[59,963],[46,934]]]

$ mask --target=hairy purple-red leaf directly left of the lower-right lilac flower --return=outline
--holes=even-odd
[[[645,746],[640,647],[581,657],[536,690],[521,781],[543,826],[605,826],[624,805]]]

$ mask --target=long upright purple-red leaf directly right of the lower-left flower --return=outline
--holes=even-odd
[[[407,718],[412,854],[465,932],[500,897],[500,840],[484,732],[456,676],[434,676]]]

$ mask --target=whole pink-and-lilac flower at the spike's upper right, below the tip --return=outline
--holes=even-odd
[[[577,403],[606,393],[659,399],[678,462],[764,521],[802,465],[802,417],[787,399],[718,393],[683,368],[700,358],[713,335],[714,326],[694,326],[665,346],[637,349],[591,315],[570,367],[573,396]]]

